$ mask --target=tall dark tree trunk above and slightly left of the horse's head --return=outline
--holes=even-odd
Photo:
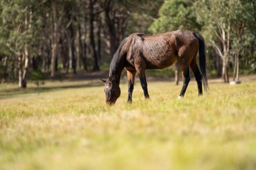
[[[94,58],[94,65],[92,70],[99,71],[98,56],[96,52],[95,40],[94,40],[94,2],[90,0],[90,42],[92,47],[92,57]]]

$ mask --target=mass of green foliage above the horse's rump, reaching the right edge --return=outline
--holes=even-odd
[[[239,56],[240,66],[244,69],[251,66],[253,70],[255,7],[255,2],[251,0],[168,0],[162,4],[159,17],[149,30],[154,34],[177,29],[199,32],[208,46],[207,53],[221,56],[222,63],[217,62],[218,65],[228,68],[232,62],[234,67],[233,58]],[[216,58],[211,58],[208,62],[217,65]],[[225,74],[228,73],[227,69],[224,70]]]

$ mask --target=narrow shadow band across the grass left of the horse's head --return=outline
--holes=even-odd
[[[28,95],[32,93],[44,93],[49,91],[57,91],[61,89],[79,89],[79,88],[86,88],[86,87],[98,87],[102,86],[102,82],[85,82],[79,83],[77,85],[57,85],[57,86],[49,86],[49,87],[28,87],[26,89],[21,89],[19,87],[11,88],[11,89],[0,89],[0,99],[8,99],[13,97],[19,97],[22,95]]]

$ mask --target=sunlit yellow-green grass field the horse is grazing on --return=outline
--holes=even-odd
[[[32,85],[30,85],[31,87]],[[98,81],[0,86],[0,169],[256,169],[256,81],[210,83],[197,96],[191,81],[136,81],[113,107]]]

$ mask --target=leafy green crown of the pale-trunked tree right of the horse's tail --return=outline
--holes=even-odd
[[[209,44],[230,43],[229,56],[236,51],[247,49],[255,36],[255,4],[252,1],[204,1],[195,3],[197,20],[203,24],[203,34]],[[239,30],[240,29],[240,30]],[[230,42],[227,36],[230,35]],[[238,49],[239,48],[239,49]]]

